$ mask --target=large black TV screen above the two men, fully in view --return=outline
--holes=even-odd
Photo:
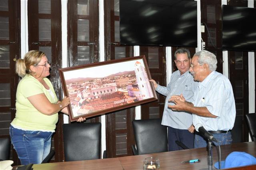
[[[194,0],[120,0],[120,44],[197,47]]]

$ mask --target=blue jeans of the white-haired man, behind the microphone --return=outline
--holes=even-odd
[[[220,134],[212,134],[214,138],[219,142],[220,145],[226,145],[226,144],[231,144],[232,143],[232,138],[231,138],[231,132],[227,133],[220,133]],[[203,138],[202,136],[199,135],[198,132],[195,134],[195,142],[194,142],[194,147],[195,148],[203,148],[207,146],[208,140]],[[215,146],[218,146],[217,142],[213,142]]]

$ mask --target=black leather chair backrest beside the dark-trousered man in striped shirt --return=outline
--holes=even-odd
[[[167,127],[161,119],[132,121],[138,154],[151,154],[168,151]]]

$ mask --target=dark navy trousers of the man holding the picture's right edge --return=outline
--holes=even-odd
[[[183,149],[176,144],[176,140],[190,149],[194,148],[194,133],[190,133],[187,129],[175,129],[168,126],[168,151]]]

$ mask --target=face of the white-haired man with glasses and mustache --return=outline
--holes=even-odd
[[[194,56],[192,58],[189,71],[194,77],[194,81],[202,82],[202,73],[204,71],[204,68],[203,64],[198,63],[198,56]]]

